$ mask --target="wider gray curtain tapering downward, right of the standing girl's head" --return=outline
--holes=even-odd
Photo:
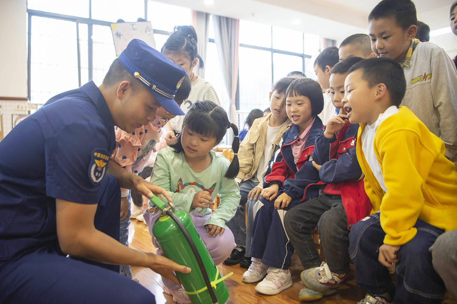
[[[230,97],[228,119],[238,124],[235,96],[238,82],[239,20],[213,15],[213,24],[214,42],[218,49],[222,75]]]

